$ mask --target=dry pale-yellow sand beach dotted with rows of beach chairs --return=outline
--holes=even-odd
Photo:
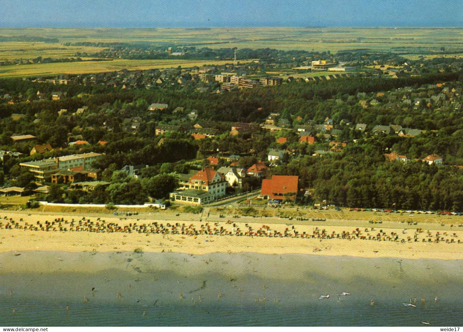
[[[195,255],[255,252],[463,259],[463,228],[458,226],[458,221],[460,225],[463,222],[461,217],[454,217],[452,224],[413,225],[394,220],[373,224],[354,219],[219,218],[207,210],[205,213],[169,214],[169,220],[163,220],[162,213],[131,217],[106,214],[97,218],[1,211],[0,252],[138,250]]]

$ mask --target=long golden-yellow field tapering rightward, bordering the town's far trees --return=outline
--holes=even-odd
[[[241,63],[252,60],[240,60]],[[145,70],[160,68],[182,68],[202,67],[203,65],[221,65],[230,61],[215,60],[125,60],[118,59],[113,61],[87,61],[74,63],[38,63],[27,65],[13,65],[0,67],[0,77],[28,77],[46,76],[57,74],[86,74],[101,73],[107,71],[118,71],[121,69]]]

